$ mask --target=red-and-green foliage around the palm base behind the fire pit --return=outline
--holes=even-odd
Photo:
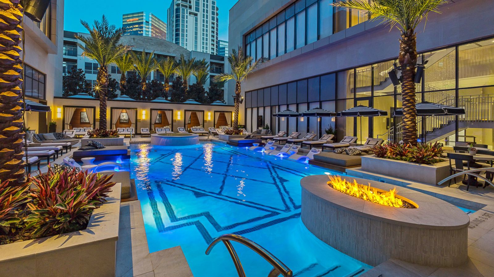
[[[418,164],[435,164],[442,162],[440,159],[441,153],[443,153],[442,145],[438,142],[432,143],[419,143],[412,145],[410,143],[388,143],[382,145],[375,145],[371,149],[374,156],[377,158],[386,158],[393,160],[400,160]]]

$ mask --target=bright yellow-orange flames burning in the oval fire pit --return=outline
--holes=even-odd
[[[346,179],[342,179],[341,176],[328,176],[328,185],[330,187],[350,196],[395,208],[418,208],[416,204],[412,204],[402,197],[398,197],[396,187],[390,191],[384,191],[371,187],[371,184],[369,186],[359,184],[355,179],[353,182],[349,182]]]

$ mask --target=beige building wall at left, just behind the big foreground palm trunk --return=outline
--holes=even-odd
[[[24,94],[26,99],[46,104],[51,112],[26,112],[24,120],[31,131],[47,132],[54,114],[55,93],[62,91],[64,1],[51,0],[41,23],[24,16]]]

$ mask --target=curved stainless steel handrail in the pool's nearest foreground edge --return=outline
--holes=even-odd
[[[233,248],[232,243],[230,242],[239,242],[256,252],[259,256],[264,258],[268,263],[270,263],[273,266],[273,269],[269,272],[268,277],[277,277],[280,274],[283,277],[291,277],[292,276],[292,271],[282,262],[280,261],[277,257],[275,257],[273,254],[271,254],[268,250],[264,249],[262,246],[259,244],[252,242],[251,240],[244,238],[239,235],[235,234],[225,234],[221,235],[218,238],[216,238],[214,241],[209,243],[209,246],[207,246],[206,249],[206,255],[209,255],[211,252],[212,248],[218,244],[218,242],[223,242],[226,246],[226,249],[228,249],[228,252],[230,252],[230,256],[232,257],[233,263],[235,264],[235,268],[237,268],[237,273],[239,274],[239,277],[246,277],[244,268],[242,267],[242,263],[240,262],[239,256],[237,255],[237,252]]]

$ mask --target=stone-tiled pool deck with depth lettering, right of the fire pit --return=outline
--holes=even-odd
[[[401,180],[388,176],[370,174],[361,168],[348,169],[347,173],[355,177],[367,179],[385,180],[386,183],[395,183],[409,189],[417,190],[437,198],[453,202],[466,208],[479,209],[470,213],[470,226],[468,229],[468,262],[455,268],[436,268],[420,266],[389,259],[363,274],[363,277],[440,277],[440,276],[468,276],[482,277],[494,276],[494,188],[470,187],[458,183],[448,185],[432,186],[412,181]],[[374,176],[372,176],[374,175]],[[390,275],[390,273],[392,273]]]

